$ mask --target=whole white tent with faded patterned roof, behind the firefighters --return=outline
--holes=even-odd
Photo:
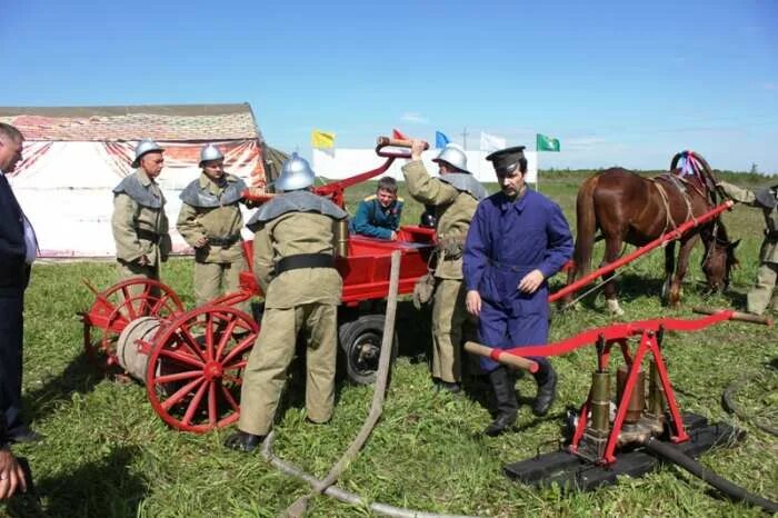
[[[166,148],[159,183],[177,252],[188,248],[174,230],[179,193],[199,176],[205,143],[225,152],[228,172],[248,185],[265,181],[262,158],[269,148],[249,104],[0,108],[0,121],[26,138],[24,159],[9,180],[43,257],[114,255],[111,190],[132,172],[141,138]]]

